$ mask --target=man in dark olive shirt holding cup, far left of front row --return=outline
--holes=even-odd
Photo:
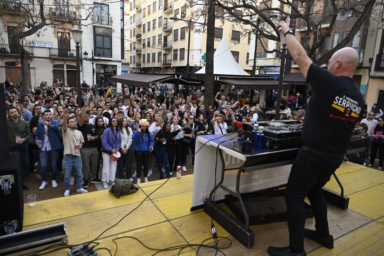
[[[10,107],[8,109],[7,119],[8,127],[8,145],[10,152],[20,152],[20,165],[22,182],[24,181],[24,175],[29,175],[29,152],[26,142],[32,138],[31,131],[27,122],[19,119],[19,114],[16,107]],[[20,139],[16,140],[16,137]],[[29,188],[23,184],[23,190]]]

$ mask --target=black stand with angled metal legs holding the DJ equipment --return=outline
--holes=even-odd
[[[208,135],[208,136],[213,136],[213,135]],[[203,140],[211,139],[208,136],[203,136],[204,137]],[[237,138],[235,139],[235,141],[241,143],[243,140],[240,138]],[[241,149],[239,149],[238,147],[237,147],[238,150],[236,149],[236,147],[233,145],[232,139],[229,142],[230,143],[226,142],[220,145],[219,145],[219,142],[218,143],[215,143],[214,141],[209,142],[209,145],[214,146],[215,148],[219,146],[218,154],[220,157],[222,168],[221,168],[220,181],[215,185],[214,189],[210,191],[209,198],[204,200],[204,211],[205,213],[207,213],[207,215],[213,217],[213,219],[220,226],[222,226],[226,231],[228,231],[228,233],[230,233],[246,248],[252,248],[255,242],[255,233],[249,228],[249,225],[250,225],[249,216],[245,208],[242,195],[240,193],[241,173],[253,172],[257,170],[263,170],[266,168],[280,167],[283,165],[293,164],[300,148],[291,147],[286,149],[270,149],[270,148],[264,147],[263,151],[252,149],[252,152],[249,155],[247,155],[247,153],[244,154],[244,152],[242,152]],[[232,155],[236,155],[237,157],[239,157],[240,160],[244,161],[244,163],[240,166],[240,168],[225,167],[223,150],[227,152],[232,151],[233,153]],[[351,145],[347,150],[347,154],[351,154],[353,152],[361,152],[364,150],[365,150],[365,138],[361,137],[351,142]],[[279,160],[276,162],[271,162],[275,159],[279,159]],[[225,172],[231,171],[231,170],[238,170],[237,177],[236,177],[236,188],[235,188],[236,192],[233,192],[232,190],[228,189],[226,186],[222,185],[225,177]],[[341,184],[341,182],[339,181],[335,173],[333,173],[333,176],[335,177],[338,185],[341,188],[341,193],[336,193],[336,192],[333,192],[332,190],[323,188],[322,190],[323,190],[324,198],[328,203],[331,203],[343,210],[346,210],[348,208],[349,198],[344,196],[343,185]],[[224,210],[222,206],[218,205],[213,200],[213,195],[218,188],[222,188],[225,192],[229,193],[230,195],[232,195],[233,197],[239,200],[242,213],[245,217],[245,223],[238,220],[238,218],[235,218],[234,216],[232,216],[230,213],[228,213],[228,211]]]

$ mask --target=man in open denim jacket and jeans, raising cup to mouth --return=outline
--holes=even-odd
[[[59,123],[52,119],[52,113],[50,110],[43,112],[44,121],[37,125],[36,130],[36,145],[41,143],[40,148],[40,163],[41,163],[41,177],[43,183],[39,189],[44,189],[47,182],[47,166],[48,160],[51,160],[51,174],[52,174],[52,187],[57,187],[57,158],[61,148],[59,141]]]

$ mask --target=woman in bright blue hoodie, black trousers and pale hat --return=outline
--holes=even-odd
[[[149,162],[149,150],[153,150],[153,135],[148,130],[148,121],[147,119],[141,119],[140,128],[132,135],[132,140],[135,142],[135,157],[136,157],[136,174],[137,181],[136,184],[141,183],[141,167],[144,164],[144,182],[148,182],[148,162]],[[133,175],[132,175],[133,177]]]

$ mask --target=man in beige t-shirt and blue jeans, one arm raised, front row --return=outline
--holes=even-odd
[[[63,114],[63,144],[64,144],[64,157],[63,157],[63,172],[64,172],[64,196],[70,195],[71,189],[71,171],[74,169],[76,176],[76,192],[87,193],[81,185],[83,183],[83,162],[81,161],[80,150],[83,146],[83,134],[76,130],[77,120],[74,117],[68,118],[68,110]]]

